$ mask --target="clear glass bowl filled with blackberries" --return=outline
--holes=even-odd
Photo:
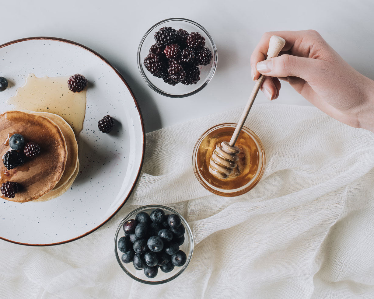
[[[202,90],[217,68],[211,35],[194,21],[172,18],[152,26],[138,48],[138,67],[156,92],[183,98]]]

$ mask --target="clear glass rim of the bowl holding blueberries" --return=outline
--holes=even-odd
[[[125,266],[123,265],[122,261],[121,261],[121,258],[117,252],[117,238],[118,238],[118,235],[119,235],[119,231],[120,229],[122,228],[123,226],[123,223],[125,221],[125,219],[127,219],[130,215],[132,214],[135,214],[136,212],[141,212],[142,210],[145,210],[145,209],[156,209],[156,208],[159,208],[159,209],[166,209],[166,210],[169,210],[170,212],[178,215],[180,218],[181,218],[181,221],[182,221],[182,224],[185,226],[186,228],[186,232],[187,232],[187,235],[190,236],[191,238],[191,242],[190,242],[190,253],[189,255],[187,256],[187,261],[186,263],[181,267],[181,269],[175,273],[172,277],[169,277],[169,278],[166,278],[164,280],[159,280],[159,281],[147,281],[147,280],[142,280],[141,278],[138,278],[134,275],[132,275],[126,268]],[[136,280],[136,281],[139,281],[141,283],[145,283],[145,284],[163,284],[163,283],[167,283],[171,280],[173,280],[174,278],[177,278],[179,275],[181,275],[183,273],[183,271],[187,268],[188,264],[190,263],[191,261],[191,258],[192,258],[192,255],[193,255],[193,248],[194,248],[194,240],[193,240],[193,235],[192,235],[192,231],[191,231],[191,228],[190,226],[188,225],[186,219],[184,219],[184,217],[178,213],[177,211],[175,211],[174,209],[171,209],[169,207],[166,207],[166,206],[162,206],[162,205],[159,205],[159,204],[148,204],[146,206],[141,206],[141,207],[138,207],[137,209],[135,210],[132,210],[130,213],[128,213],[123,219],[122,221],[120,222],[117,230],[116,230],[116,234],[114,236],[114,254],[116,255],[116,259],[117,259],[117,262],[119,263],[120,267],[122,268],[122,270],[127,274],[129,275],[132,279]],[[129,263],[131,264],[131,263]]]

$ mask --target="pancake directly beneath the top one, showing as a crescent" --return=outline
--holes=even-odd
[[[70,177],[73,175],[77,168],[78,161],[78,144],[75,139],[74,131],[71,129],[70,125],[61,116],[49,112],[30,112],[35,115],[40,115],[52,120],[61,130],[62,135],[64,135],[66,146],[68,149],[68,157],[65,164],[65,171],[62,174],[61,179],[56,184],[53,190],[59,189],[65,185]]]

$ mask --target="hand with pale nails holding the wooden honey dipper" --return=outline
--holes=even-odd
[[[286,44],[278,57],[265,60],[272,35]],[[317,31],[265,33],[252,53],[251,74],[253,80],[269,76],[261,90],[270,100],[278,98],[281,79],[331,117],[374,132],[374,81],[347,64]]]

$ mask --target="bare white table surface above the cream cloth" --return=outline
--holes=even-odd
[[[0,44],[52,36],[90,47],[126,78],[140,104],[145,131],[151,132],[245,105],[254,84],[249,57],[265,31],[315,29],[356,70],[374,79],[373,12],[373,0],[2,1]],[[151,90],[137,67],[137,48],[145,31],[172,17],[203,25],[218,49],[212,81],[183,99]],[[310,105],[286,83],[276,101]],[[261,93],[255,103],[264,102],[269,101]]]

